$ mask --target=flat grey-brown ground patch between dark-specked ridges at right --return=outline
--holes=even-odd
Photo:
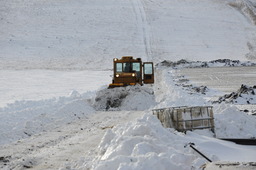
[[[178,70],[176,74],[186,75],[194,85],[204,85],[224,93],[231,93],[239,89],[241,84],[255,85],[256,67],[187,68]]]

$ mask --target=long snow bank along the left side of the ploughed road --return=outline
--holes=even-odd
[[[88,104],[89,94],[73,91],[70,97],[40,101],[16,101],[0,108],[0,145],[82,119],[95,110]]]

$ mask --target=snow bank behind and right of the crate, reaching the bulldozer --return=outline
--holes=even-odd
[[[156,100],[159,104],[155,108],[177,107],[177,106],[207,106],[213,105],[211,97],[217,92],[209,89],[204,93],[191,93],[183,86],[177,86],[176,77],[172,74],[174,69],[157,69],[159,82],[155,86]],[[180,82],[183,83],[183,82]],[[247,86],[246,86],[247,87]],[[252,88],[246,88],[250,92]],[[242,104],[242,100],[237,100]],[[215,132],[219,138],[251,138],[256,137],[255,117],[240,111],[236,106],[230,104],[214,104]]]

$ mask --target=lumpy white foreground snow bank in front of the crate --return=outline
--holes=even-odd
[[[109,129],[98,146],[98,156],[81,169],[200,169],[208,161],[192,150],[189,143],[194,143],[212,161],[255,161],[255,147],[212,136],[208,130],[185,135],[165,129],[155,116],[145,114],[136,121]]]

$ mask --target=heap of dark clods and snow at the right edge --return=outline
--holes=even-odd
[[[253,87],[241,85],[237,92],[225,94],[213,103],[256,104],[256,85]]]

